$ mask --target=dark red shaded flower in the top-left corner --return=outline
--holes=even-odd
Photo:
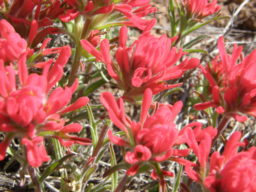
[[[36,20],[39,27],[50,26],[65,8],[59,0],[0,0],[0,7],[8,22],[22,37],[28,36],[31,20]]]

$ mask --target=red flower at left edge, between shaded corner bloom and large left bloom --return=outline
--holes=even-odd
[[[23,52],[27,52],[26,58],[30,58],[34,54],[34,50],[30,49],[31,47],[35,47],[38,43],[40,43],[43,38],[47,34],[38,34],[36,32],[38,30],[38,23],[36,20],[32,21],[32,29],[30,30],[28,43],[25,39],[21,38],[18,33],[15,32],[13,26],[8,23],[6,20],[0,20],[0,59],[4,61],[5,65],[16,64],[17,60]],[[37,62],[38,58],[45,56],[47,54],[59,53],[62,48],[47,48],[46,45],[51,39],[48,38],[42,42],[42,46],[38,49],[38,51],[34,54],[34,59],[27,63],[28,67],[36,66],[37,68],[43,68],[47,62]],[[11,63],[10,63],[11,62]],[[16,69],[16,66],[14,66]]]

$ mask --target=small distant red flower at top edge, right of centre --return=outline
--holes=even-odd
[[[184,6],[188,12],[188,17],[201,20],[220,10],[220,5],[216,6],[217,0],[208,2],[209,0],[185,0]]]

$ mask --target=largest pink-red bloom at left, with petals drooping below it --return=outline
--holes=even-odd
[[[27,54],[25,51],[18,57],[20,85],[16,84],[16,70],[11,66],[4,67],[4,60],[0,59],[0,130],[7,132],[6,138],[0,144],[0,160],[4,159],[10,140],[19,135],[22,143],[27,146],[28,162],[37,167],[42,161],[49,160],[42,144],[42,136],[57,138],[64,146],[71,146],[74,142],[91,144],[90,139],[68,134],[79,132],[82,129],[80,124],[64,126],[65,121],[60,119],[60,114],[86,105],[89,99],[80,98],[65,108],[78,87],[78,80],[70,88],[52,90],[62,78],[63,66],[71,54],[70,46],[62,47],[58,59],[50,70],[54,60],[46,63],[42,76],[28,75]]]

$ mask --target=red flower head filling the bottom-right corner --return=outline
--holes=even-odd
[[[254,192],[256,186],[256,147],[237,153],[241,132],[235,132],[226,144],[224,152],[214,152],[208,162],[211,139],[205,134],[205,139],[198,145],[191,130],[186,133],[187,143],[198,157],[200,172],[185,166],[190,178],[200,183],[211,192]],[[210,167],[210,168],[209,168]]]

